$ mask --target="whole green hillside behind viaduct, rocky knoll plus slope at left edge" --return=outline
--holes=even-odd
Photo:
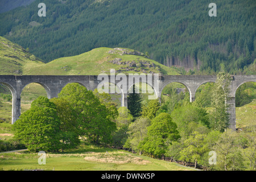
[[[96,48],[81,55],[43,63],[28,50],[0,36],[0,75],[98,75],[110,73],[180,75],[176,69],[127,48]]]

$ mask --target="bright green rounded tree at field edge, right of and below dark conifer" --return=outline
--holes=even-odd
[[[148,154],[162,156],[167,151],[168,145],[180,138],[176,130],[176,123],[172,122],[170,114],[161,113],[151,121],[147,128],[147,137],[144,139],[142,149]]]

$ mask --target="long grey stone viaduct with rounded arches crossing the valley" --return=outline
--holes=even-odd
[[[102,76],[104,77],[104,76]],[[165,86],[172,82],[179,82],[187,87],[190,94],[190,101],[195,101],[195,94],[197,88],[206,82],[215,82],[216,76],[196,76],[196,75],[164,75],[164,76],[148,76],[143,79],[140,75],[134,76],[105,76],[103,79],[100,76],[84,75],[84,76],[39,76],[39,75],[0,75],[0,83],[6,85],[13,95],[13,111],[12,111],[12,123],[14,123],[20,116],[20,94],[23,88],[36,82],[44,87],[47,92],[48,98],[57,97],[61,92],[61,89],[72,82],[77,82],[85,86],[88,90],[94,90],[104,80],[105,82],[111,82],[115,84],[121,90],[121,106],[127,107],[127,90],[131,88],[137,82],[146,82],[152,86],[155,92],[156,98],[161,97],[162,90]],[[120,85],[120,82],[123,84]],[[236,90],[245,82],[255,82],[256,75],[249,76],[232,76],[232,84],[230,85],[230,128],[236,130]]]

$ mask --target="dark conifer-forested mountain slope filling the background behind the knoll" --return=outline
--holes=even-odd
[[[255,59],[254,0],[216,0],[216,17],[207,0],[45,0],[46,17],[40,2],[0,14],[0,35],[46,62],[127,47],[167,66],[255,74],[246,69]]]

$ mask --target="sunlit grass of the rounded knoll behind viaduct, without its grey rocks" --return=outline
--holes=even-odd
[[[122,73],[135,73],[134,71],[126,71],[128,65],[117,65],[109,63],[114,59],[122,59],[122,61],[148,61],[154,63],[158,68],[137,68],[137,73],[142,73],[144,69],[147,73],[159,71],[163,75],[180,75],[175,69],[166,67],[154,60],[147,59],[143,56],[121,54],[121,51],[109,53],[113,48],[96,48],[92,51],[82,53],[81,55],[62,57],[53,60],[47,64],[38,64],[31,69],[27,69],[26,75],[99,75],[100,73],[110,73],[110,69]],[[129,49],[129,51],[133,51]],[[121,69],[122,68],[122,69]],[[141,71],[141,72],[140,72]]]

